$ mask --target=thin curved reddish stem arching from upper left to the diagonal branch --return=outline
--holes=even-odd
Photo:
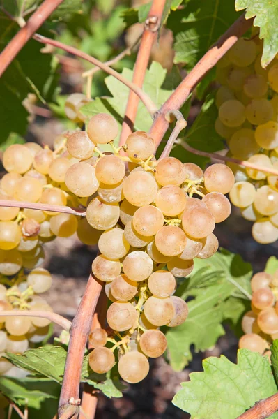
[[[141,101],[146,106],[148,112],[150,112],[150,115],[153,115],[157,111],[157,107],[155,106],[155,103],[150,99],[148,94],[146,94],[140,87],[138,87],[133,82],[130,82],[130,80],[127,80],[115,71],[113,68],[110,68],[106,64],[102,63],[98,59],[91,57],[90,55],[86,54],[85,52],[77,50],[77,48],[71,47],[70,45],[65,45],[64,43],[61,43],[59,41],[55,41],[54,39],[47,38],[46,36],[42,36],[39,34],[34,34],[33,38],[36,39],[36,41],[46,44],[46,45],[53,45],[56,48],[60,48],[61,50],[64,50],[68,52],[69,54],[76,55],[77,57],[80,57],[82,59],[86,59],[86,61],[89,61],[90,63],[94,64],[95,66],[100,67],[105,73],[108,73],[110,75],[113,75],[114,78],[119,80],[121,83],[125,84],[125,86],[128,86],[130,90],[134,91],[135,94],[141,99]]]

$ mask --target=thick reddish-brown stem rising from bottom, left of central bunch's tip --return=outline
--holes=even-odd
[[[84,350],[101,290],[102,284],[100,281],[90,274],[85,293],[70,330],[70,343],[68,345],[68,355],[65,362],[65,373],[59,400],[59,415],[65,411],[70,399],[78,399],[79,397],[79,382]]]

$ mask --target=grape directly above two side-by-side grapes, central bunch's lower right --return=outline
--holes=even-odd
[[[155,297],[166,298],[176,290],[176,279],[166,270],[153,272],[148,278],[148,288]]]

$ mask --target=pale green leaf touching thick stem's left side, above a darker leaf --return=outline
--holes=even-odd
[[[33,374],[40,374],[57,383],[61,383],[65,369],[66,351],[61,346],[29,349],[20,355],[7,353],[5,358],[13,365],[26,369]]]

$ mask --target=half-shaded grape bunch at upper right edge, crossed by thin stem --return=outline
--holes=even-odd
[[[228,156],[278,169],[278,59],[261,67],[263,42],[240,38],[217,64],[219,110],[215,130],[229,146]],[[278,239],[278,177],[228,163],[235,174],[233,205],[253,221],[254,240]]]

